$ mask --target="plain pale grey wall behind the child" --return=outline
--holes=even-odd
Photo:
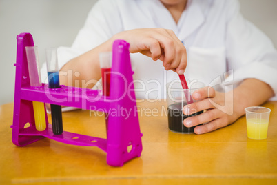
[[[34,44],[39,46],[40,61],[45,61],[45,48],[71,46],[95,2],[0,0],[0,105],[13,101],[17,35],[32,33]],[[240,0],[240,3],[243,15],[277,47],[277,0]]]

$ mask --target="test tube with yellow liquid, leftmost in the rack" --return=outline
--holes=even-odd
[[[25,50],[28,63],[30,85],[34,87],[41,86],[38,47],[26,46]],[[34,109],[34,124],[36,125],[36,129],[38,131],[43,131],[46,129],[44,103],[39,101],[32,101],[32,106]]]

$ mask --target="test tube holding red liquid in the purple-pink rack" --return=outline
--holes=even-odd
[[[103,95],[110,96],[110,74],[112,68],[112,52],[100,53],[100,68],[102,75]],[[106,133],[108,127],[109,115],[105,113]]]

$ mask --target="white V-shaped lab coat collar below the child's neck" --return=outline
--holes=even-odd
[[[203,2],[198,0],[188,0],[187,7],[181,14],[178,24],[175,23],[172,15],[160,0],[152,0],[150,12],[152,12],[152,18],[157,28],[173,30],[177,37],[183,41],[205,21],[201,3]]]

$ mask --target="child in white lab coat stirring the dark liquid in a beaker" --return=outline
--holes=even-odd
[[[196,126],[196,134],[232,124],[247,106],[276,95],[277,52],[260,30],[243,19],[238,0],[99,0],[72,47],[58,50],[60,71],[73,74],[72,81],[61,75],[61,84],[92,88],[88,81],[101,77],[99,53],[111,51],[115,39],[129,42],[135,53],[134,79],[141,82],[135,88],[145,86],[144,92],[136,92],[137,98],[165,98],[163,90],[147,93],[156,88],[150,81],[165,87],[164,69],[172,70],[167,79],[185,72],[187,79],[206,86],[225,72],[231,74],[225,81],[234,89],[202,88],[193,94],[198,102],[183,108],[185,115],[207,110],[184,121],[189,127],[207,123]]]

